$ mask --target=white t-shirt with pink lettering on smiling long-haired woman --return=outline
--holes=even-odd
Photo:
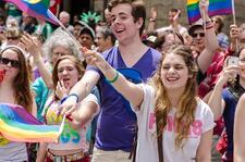
[[[148,85],[142,85],[144,89],[144,101],[140,111],[136,111],[138,122],[137,162],[158,162],[158,145],[156,134],[156,117],[154,113],[155,90]],[[183,149],[175,149],[174,140],[174,112],[172,109],[168,115],[167,129],[163,133],[163,158],[164,162],[193,162],[204,133],[213,128],[213,114],[210,108],[201,100],[195,112],[195,121],[191,134]]]

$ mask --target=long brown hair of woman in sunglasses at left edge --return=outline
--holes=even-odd
[[[17,60],[20,62],[19,73],[15,76],[12,85],[14,89],[14,99],[15,102],[32,113],[33,109],[33,96],[30,91],[30,74],[27,66],[25,55],[21,48],[15,46],[9,46],[3,49],[0,53],[2,55],[7,50],[11,50],[17,53]]]

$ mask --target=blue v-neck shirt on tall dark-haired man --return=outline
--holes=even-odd
[[[156,71],[161,53],[149,48],[131,68],[124,63],[118,47],[102,53],[109,64],[134,83],[146,82]],[[135,137],[136,117],[126,101],[100,74],[101,105],[97,123],[96,147],[102,150],[131,151]]]

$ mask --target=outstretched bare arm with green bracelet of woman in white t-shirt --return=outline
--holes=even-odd
[[[101,54],[88,51],[84,53],[88,64],[98,67],[113,88],[115,88],[133,105],[139,107],[144,99],[144,91],[140,86],[128,82],[122,74],[114,70]]]

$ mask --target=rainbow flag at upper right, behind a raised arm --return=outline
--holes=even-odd
[[[209,16],[232,14],[232,0],[209,0],[208,14]],[[199,0],[187,0],[187,15],[189,24],[201,17]]]

